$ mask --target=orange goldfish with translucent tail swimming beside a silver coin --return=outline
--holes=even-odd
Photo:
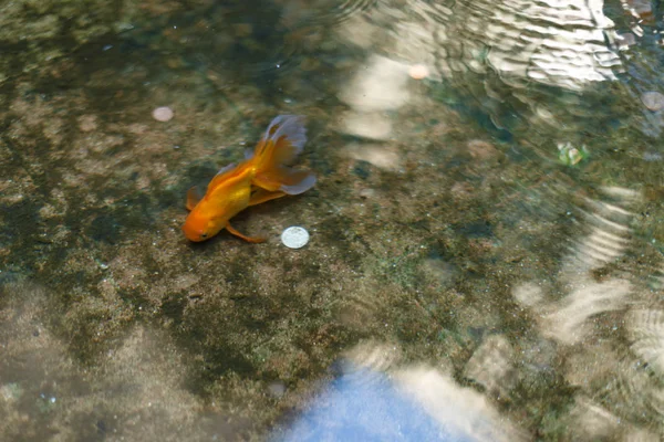
[[[303,118],[280,115],[272,119],[253,154],[245,152],[239,165],[228,165],[212,178],[200,198],[196,187],[187,192],[190,210],[183,231],[191,241],[209,240],[221,229],[249,242],[264,238],[246,236],[230,225],[229,220],[249,206],[260,204],[286,194],[299,194],[311,189],[315,176],[307,170],[288,167],[307,143]]]

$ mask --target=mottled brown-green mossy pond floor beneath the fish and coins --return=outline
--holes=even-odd
[[[661,434],[656,394],[621,394],[662,373],[630,377],[636,335],[613,328],[662,288],[661,161],[644,160],[662,146],[630,91],[408,78],[409,99],[381,110],[391,136],[362,138],[341,129],[341,90],[372,55],[340,36],[351,24],[255,3],[0,6],[14,55],[0,57],[0,439],[263,440],[376,341],[535,439],[573,440],[598,407],[625,419],[620,434]],[[164,105],[175,118],[156,122]],[[264,244],[187,242],[187,189],[286,113],[308,117],[317,186],[235,219]],[[588,156],[572,167],[558,143]],[[627,232],[610,259],[609,236],[588,242],[602,220]],[[305,248],[279,242],[290,225]],[[587,318],[578,341],[548,325],[577,281],[615,280],[631,307]],[[512,355],[499,387],[469,368],[494,336]]]

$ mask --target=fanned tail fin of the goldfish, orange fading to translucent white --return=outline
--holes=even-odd
[[[256,177],[252,183],[264,190],[299,194],[313,187],[315,176],[305,170],[288,167],[307,143],[304,119],[297,115],[279,115],[268,126],[256,146],[253,161]]]

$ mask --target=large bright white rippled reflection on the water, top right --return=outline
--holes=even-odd
[[[428,61],[437,76],[490,69],[521,87],[537,82],[581,90],[615,80],[622,70],[606,45],[615,38],[613,22],[598,1],[466,0],[452,8],[413,0],[409,6],[416,20],[394,25],[395,52],[412,62]]]

